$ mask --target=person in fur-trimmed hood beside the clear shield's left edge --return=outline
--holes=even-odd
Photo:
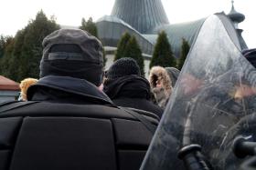
[[[150,85],[155,95],[156,103],[160,107],[165,108],[172,94],[173,86],[176,84],[178,74],[179,70],[174,67],[154,66],[150,70]]]

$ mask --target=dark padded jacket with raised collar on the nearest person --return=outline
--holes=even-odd
[[[137,170],[158,125],[77,78],[46,76],[27,96],[0,105],[1,170]]]

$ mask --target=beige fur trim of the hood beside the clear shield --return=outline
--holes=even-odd
[[[156,86],[157,80],[161,82],[162,87]],[[172,94],[172,81],[165,68],[162,66],[152,67],[149,82],[156,102],[159,106],[165,107],[169,96]]]

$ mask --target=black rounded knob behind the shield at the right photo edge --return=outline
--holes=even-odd
[[[256,142],[250,141],[251,137],[239,136],[235,138],[233,144],[233,153],[239,157],[244,158],[247,155],[256,155]]]

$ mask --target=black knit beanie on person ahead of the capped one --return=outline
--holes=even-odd
[[[140,67],[133,58],[124,57],[115,61],[107,71],[107,79],[115,79],[125,75],[141,75]]]

